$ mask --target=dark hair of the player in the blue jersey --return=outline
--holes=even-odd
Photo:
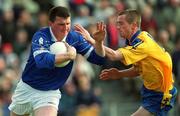
[[[54,22],[57,16],[68,18],[70,17],[70,12],[66,7],[62,7],[62,6],[56,6],[51,8],[49,11],[49,20],[51,22]]]

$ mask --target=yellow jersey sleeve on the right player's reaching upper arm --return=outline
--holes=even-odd
[[[127,46],[124,48],[119,48],[118,50],[124,57],[123,63],[125,65],[134,64],[144,59],[148,55],[148,48],[145,43],[141,43],[138,46]]]

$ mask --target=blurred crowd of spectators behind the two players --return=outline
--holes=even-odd
[[[125,42],[116,29],[116,15],[124,9],[142,14],[142,30],[148,31],[173,59],[175,85],[180,90],[180,0],[0,0],[0,116],[9,116],[8,105],[28,58],[35,31],[48,25],[48,10],[66,6],[75,23],[92,34],[96,22],[107,24],[105,44],[113,49]],[[141,80],[101,81],[102,69],[128,68],[106,61],[102,67],[77,57],[74,73],[61,88],[59,116],[129,116],[140,106]],[[180,116],[180,94],[169,116]]]

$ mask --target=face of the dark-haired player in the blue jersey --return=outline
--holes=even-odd
[[[50,26],[55,35],[63,37],[66,36],[70,31],[71,19],[70,17],[56,17],[55,21],[50,23]]]

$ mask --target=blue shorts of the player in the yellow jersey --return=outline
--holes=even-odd
[[[166,116],[168,111],[174,106],[177,89],[173,87],[170,90],[170,94],[172,97],[167,100],[169,104],[162,107],[163,92],[152,91],[143,86],[141,89],[142,107],[156,116]]]

